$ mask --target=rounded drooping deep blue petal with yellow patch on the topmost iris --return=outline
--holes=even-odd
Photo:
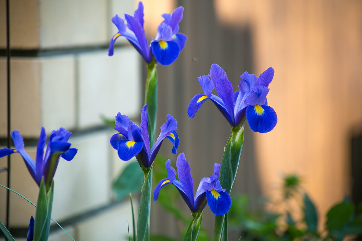
[[[160,40],[160,42],[163,40]],[[176,42],[168,41],[167,46],[161,45],[159,42],[152,42],[152,53],[155,55],[157,62],[161,65],[172,64],[180,55],[180,46]]]

